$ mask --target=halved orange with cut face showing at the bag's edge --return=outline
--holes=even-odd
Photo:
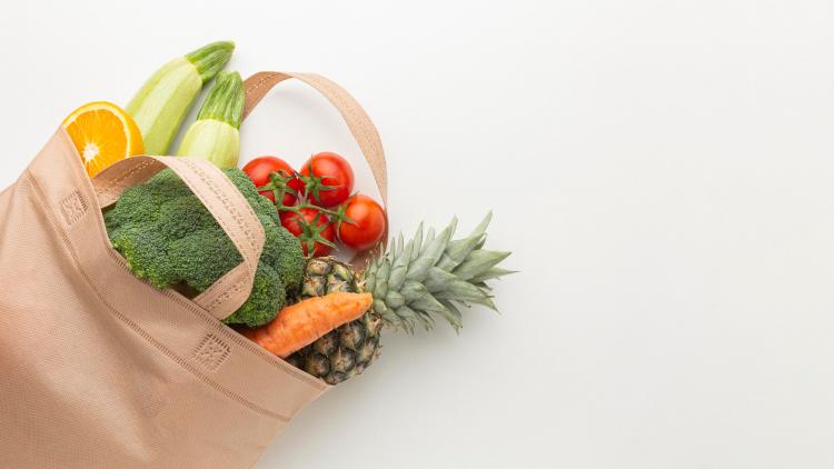
[[[67,116],[62,126],[91,178],[116,161],[143,151],[139,127],[112,102],[85,104]]]

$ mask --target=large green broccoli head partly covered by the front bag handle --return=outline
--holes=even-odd
[[[224,322],[261,326],[275,318],[287,293],[298,288],[304,253],[251,180],[238,169],[224,172],[252,207],[266,233],[252,291]],[[105,224],[130,271],[159,289],[199,293],[242,260],[211,213],[169,169],[127,189],[105,213]]]

